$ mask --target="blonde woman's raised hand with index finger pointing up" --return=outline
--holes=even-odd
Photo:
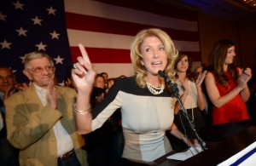
[[[90,92],[93,88],[96,72],[94,71],[89,56],[84,49],[83,44],[79,43],[79,49],[82,56],[77,58],[78,62],[73,64],[72,77],[78,90]]]

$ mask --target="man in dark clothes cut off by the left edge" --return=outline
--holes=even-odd
[[[9,166],[9,165],[19,165],[19,150],[16,149],[9,143],[7,140],[7,131],[6,131],[6,122],[5,122],[5,113],[6,109],[3,104],[3,101],[6,100],[10,95],[18,91],[18,89],[23,88],[22,85],[18,86],[15,80],[15,75],[8,66],[0,66],[0,116],[2,117],[2,127],[0,131],[0,165]],[[24,84],[25,85],[25,84]]]

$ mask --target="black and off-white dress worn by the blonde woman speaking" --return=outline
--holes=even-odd
[[[105,100],[93,109],[92,130],[98,129],[113,112],[121,108],[125,137],[123,157],[154,161],[172,151],[166,130],[173,123],[173,103],[166,89],[152,94],[140,88],[135,77],[118,78]]]

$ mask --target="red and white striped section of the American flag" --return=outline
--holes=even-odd
[[[80,55],[78,44],[83,43],[96,72],[108,72],[109,77],[131,76],[131,41],[148,27],[160,27],[178,50],[190,54],[195,64],[201,61],[197,14],[193,12],[148,0],[123,1],[125,4],[119,0],[64,2],[73,61]]]

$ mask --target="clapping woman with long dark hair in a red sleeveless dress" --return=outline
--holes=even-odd
[[[250,92],[247,82],[251,69],[235,64],[236,47],[230,40],[220,40],[213,46],[211,66],[205,79],[207,94],[212,101],[212,124],[231,123],[249,118],[245,102]]]

